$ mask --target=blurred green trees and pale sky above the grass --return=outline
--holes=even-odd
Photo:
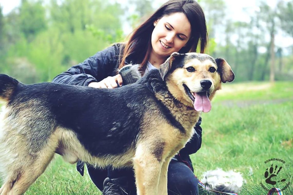
[[[0,0],[0,72],[51,81],[124,41],[164,1]],[[200,0],[206,53],[225,58],[235,82],[293,80],[293,1]]]

